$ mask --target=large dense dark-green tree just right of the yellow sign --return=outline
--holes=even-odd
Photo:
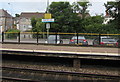
[[[76,32],[80,29],[78,22],[81,20],[76,13],[73,13],[69,2],[52,2],[49,12],[55,19],[50,31],[52,32]]]

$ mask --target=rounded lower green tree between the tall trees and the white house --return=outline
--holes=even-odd
[[[82,27],[84,27],[85,32],[88,33],[102,33],[103,30],[103,17],[102,16],[93,16],[87,17],[82,21]]]

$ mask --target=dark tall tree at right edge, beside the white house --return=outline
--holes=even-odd
[[[106,26],[112,26],[114,30],[119,30],[118,32],[120,33],[120,1],[119,2],[107,2],[107,4],[104,4],[106,7],[106,13],[110,15],[111,17],[114,18],[114,20],[111,20],[109,22],[109,25]],[[107,28],[110,28],[107,27]],[[114,31],[113,30],[113,31]]]

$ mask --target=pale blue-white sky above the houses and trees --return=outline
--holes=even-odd
[[[0,0],[0,9],[7,10],[12,16],[15,16],[16,13],[20,14],[21,12],[45,12],[47,1],[49,1],[49,4],[53,1],[69,1],[72,4],[73,2],[81,0]],[[92,4],[92,6],[88,8],[90,15],[105,15],[104,3],[107,3],[107,1],[115,0],[89,0]]]

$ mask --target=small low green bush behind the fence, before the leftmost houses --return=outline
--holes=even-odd
[[[6,38],[8,39],[17,39],[18,33],[20,32],[17,29],[9,29],[7,30]]]

